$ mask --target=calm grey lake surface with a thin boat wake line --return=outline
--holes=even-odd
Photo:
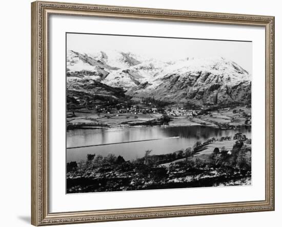
[[[167,154],[177,150],[193,147],[196,141],[209,138],[232,136],[241,132],[251,138],[251,127],[240,127],[237,130],[219,130],[205,126],[184,127],[136,127],[120,129],[74,129],[67,131],[67,148],[100,145],[95,147],[67,149],[67,162],[86,160],[87,154],[121,155],[125,160],[143,157],[146,150],[153,154]],[[179,138],[170,138],[177,137]],[[168,139],[170,138],[170,139]],[[158,139],[151,141],[138,141]],[[108,143],[123,142],[114,145]]]

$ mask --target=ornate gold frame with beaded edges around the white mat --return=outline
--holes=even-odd
[[[133,220],[274,210],[274,17],[167,9],[33,2],[31,4],[31,223]],[[262,201],[117,210],[49,212],[48,16],[50,14],[261,26],[266,30],[266,195]]]

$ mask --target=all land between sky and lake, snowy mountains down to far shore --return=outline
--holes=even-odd
[[[251,125],[251,76],[224,58],[69,51],[67,128]]]

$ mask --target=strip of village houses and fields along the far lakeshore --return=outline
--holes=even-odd
[[[156,105],[154,99],[152,102],[106,101],[98,104],[78,101],[79,108],[67,112],[68,128],[203,125],[226,130],[251,125],[251,108],[246,105],[185,108],[185,105]]]

